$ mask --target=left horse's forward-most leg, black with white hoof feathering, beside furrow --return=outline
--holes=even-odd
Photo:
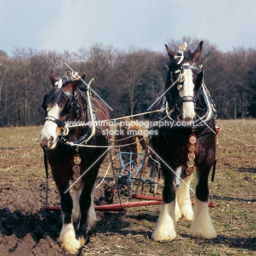
[[[57,242],[60,242],[61,247],[66,251],[74,254],[77,253],[77,250],[80,248],[80,243],[75,238],[75,231],[71,218],[72,208],[73,202],[69,191],[67,193],[61,193],[61,211],[63,224],[60,237],[58,238]]]

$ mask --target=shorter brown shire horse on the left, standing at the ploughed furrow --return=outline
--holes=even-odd
[[[76,253],[96,226],[95,181],[106,148],[93,146],[108,146],[108,138],[103,134],[107,124],[101,127],[88,121],[109,119],[109,111],[102,101],[88,97],[86,89],[80,88],[84,75],[81,78],[77,72],[67,72],[56,79],[52,72],[50,80],[53,88],[43,98],[47,117],[40,141],[61,197],[63,224],[57,241],[69,253]],[[67,129],[66,124],[71,121],[87,125]],[[91,147],[82,147],[86,145]],[[71,180],[73,200],[69,193]]]

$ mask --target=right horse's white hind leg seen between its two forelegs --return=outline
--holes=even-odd
[[[179,209],[181,210],[181,214],[187,220],[193,220],[193,217],[194,217],[192,203],[191,203],[190,194],[189,194],[189,186],[192,181],[192,177],[193,175],[184,176],[180,182],[181,184],[179,185],[179,188],[177,191],[177,201],[178,201]]]

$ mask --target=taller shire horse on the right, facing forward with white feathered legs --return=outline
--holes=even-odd
[[[176,221],[182,216],[193,220],[191,235],[212,239],[216,231],[208,210],[208,175],[215,162],[217,113],[210,93],[203,82],[203,70],[198,62],[202,43],[194,52],[187,44],[179,45],[176,54],[168,48],[170,63],[166,66],[165,90],[152,100],[153,122],[150,140],[153,152],[159,156],[165,184],[162,206],[152,238],[155,241],[173,240]],[[176,195],[176,168],[182,166],[181,185]],[[194,213],[189,185],[196,167]]]

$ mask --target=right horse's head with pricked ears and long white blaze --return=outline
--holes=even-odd
[[[179,45],[178,54],[165,45],[171,59],[165,88],[166,98],[169,107],[177,110],[179,121],[192,121],[196,118],[195,96],[203,80],[203,71],[198,65],[202,43],[194,53],[186,51],[187,44]]]

